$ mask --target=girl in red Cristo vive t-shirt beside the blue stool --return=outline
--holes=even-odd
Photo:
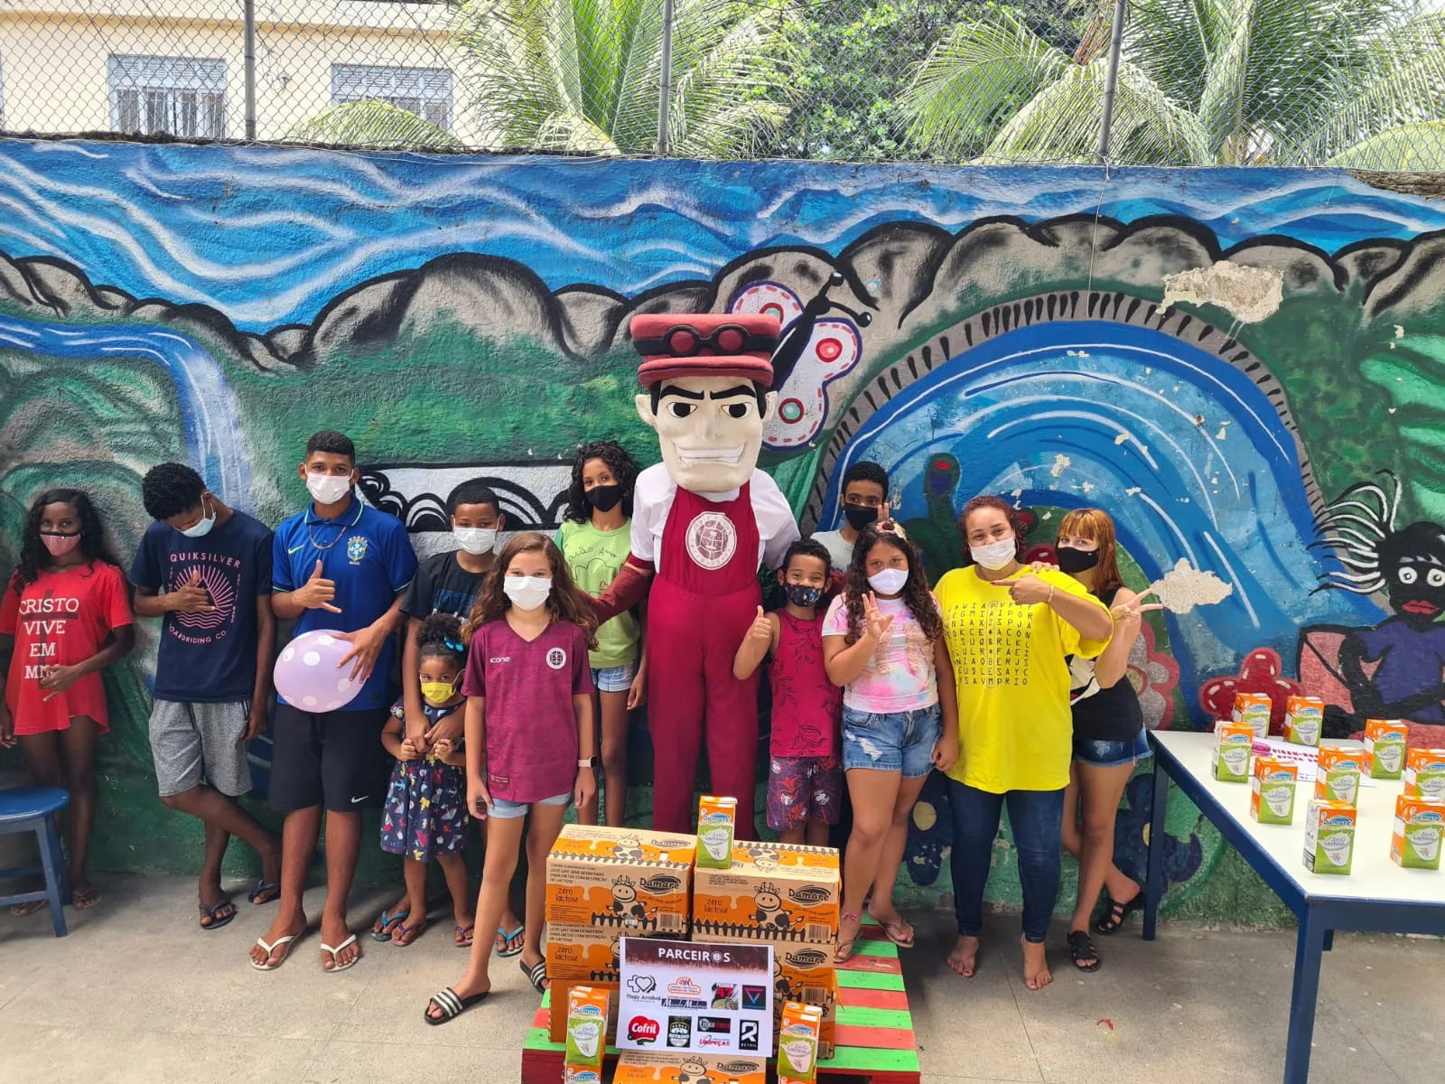
[[[130,585],[79,490],[30,504],[20,564],[0,600],[0,746],[20,743],[38,786],[71,792],[69,879],[77,911],[100,903],[85,876],[95,820],[95,739],[110,730],[100,672],[136,645]],[[29,915],[43,900],[12,911]]]

